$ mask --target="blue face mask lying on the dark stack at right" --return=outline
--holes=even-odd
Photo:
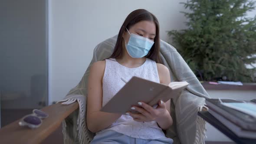
[[[222,105],[225,105],[226,107],[233,108],[237,111],[241,111],[243,113],[246,113],[247,115],[251,115],[256,118],[256,105],[249,103],[249,102],[223,102],[219,98],[219,101]]]

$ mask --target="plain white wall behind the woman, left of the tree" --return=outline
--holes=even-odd
[[[49,0],[49,104],[62,99],[84,74],[94,47],[118,34],[131,11],[143,8],[159,20],[161,39],[185,28],[186,0]]]

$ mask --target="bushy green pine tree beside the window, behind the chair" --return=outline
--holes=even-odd
[[[187,29],[168,32],[190,68],[202,80],[226,77],[230,81],[253,82],[256,62],[256,16],[252,0],[189,0]]]

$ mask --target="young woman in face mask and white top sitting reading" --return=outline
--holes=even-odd
[[[118,33],[109,59],[95,62],[88,82],[87,126],[96,133],[91,144],[172,144],[163,130],[172,125],[170,100],[153,108],[143,101],[126,115],[100,111],[133,76],[163,84],[170,83],[170,72],[159,59],[160,39],[157,18],[147,10],[131,12]]]

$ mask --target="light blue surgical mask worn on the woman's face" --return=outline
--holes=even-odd
[[[128,31],[128,29],[127,29]],[[153,46],[154,42],[150,39],[144,38],[143,36],[138,36],[133,33],[130,33],[130,39],[125,46],[127,49],[128,54],[132,58],[142,58],[148,54],[151,47]]]

